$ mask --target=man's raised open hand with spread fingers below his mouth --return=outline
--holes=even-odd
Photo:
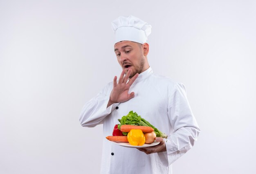
[[[108,101],[108,106],[114,104],[114,103],[121,103],[130,100],[131,98],[134,97],[134,92],[128,94],[128,91],[130,89],[130,86],[133,84],[135,79],[138,77],[138,73],[135,74],[129,81],[128,78],[131,73],[131,69],[128,70],[128,72],[125,75],[125,70],[122,71],[119,81],[117,83],[117,76],[114,77],[113,81],[113,89],[110,94],[110,98]],[[128,83],[127,83],[128,81]],[[107,106],[107,107],[108,107]]]

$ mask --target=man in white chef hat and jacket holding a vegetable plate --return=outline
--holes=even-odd
[[[172,163],[193,147],[200,132],[186,89],[180,82],[154,74],[149,66],[149,24],[132,15],[120,16],[112,28],[122,72],[85,104],[81,125],[103,124],[102,174],[171,174]],[[138,149],[110,143],[105,137],[131,110],[168,138],[157,137],[158,145]]]

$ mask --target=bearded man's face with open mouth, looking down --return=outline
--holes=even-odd
[[[142,73],[148,68],[145,64],[146,57],[144,56],[141,44],[131,41],[121,41],[117,42],[114,48],[121,67],[126,73],[129,69],[132,70],[129,78],[132,78],[136,73]]]

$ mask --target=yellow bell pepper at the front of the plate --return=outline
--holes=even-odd
[[[127,134],[127,139],[131,145],[144,145],[146,139],[140,129],[132,129]]]

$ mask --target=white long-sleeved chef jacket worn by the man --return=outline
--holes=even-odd
[[[152,68],[140,73],[130,87],[135,97],[115,103],[107,108],[113,82],[82,109],[80,122],[84,127],[103,124],[102,174],[172,174],[171,164],[192,148],[200,129],[191,112],[186,90],[168,77],[155,75]],[[105,137],[112,135],[117,119],[130,110],[168,135],[166,152],[145,154],[136,148],[110,143]]]

